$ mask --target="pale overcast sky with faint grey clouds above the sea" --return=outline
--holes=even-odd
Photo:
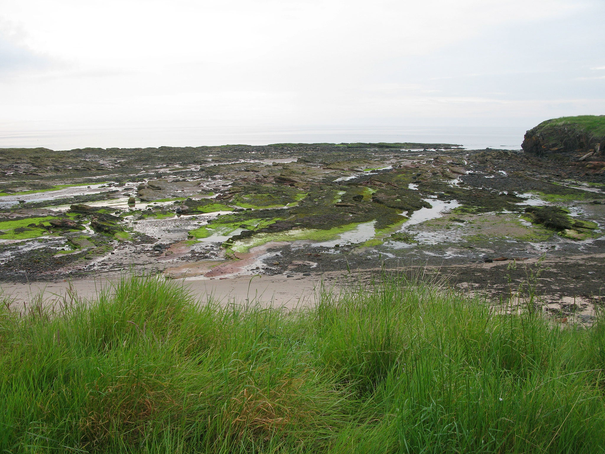
[[[0,146],[605,114],[603,18],[603,0],[0,0]]]

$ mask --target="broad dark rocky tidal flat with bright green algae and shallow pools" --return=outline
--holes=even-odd
[[[605,252],[603,186],[557,180],[560,169],[544,163],[536,177],[538,164],[518,151],[400,143],[19,153],[20,170],[0,183],[5,281]]]

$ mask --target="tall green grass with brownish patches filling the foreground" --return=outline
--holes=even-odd
[[[125,278],[0,315],[2,453],[601,453],[605,325],[384,277],[313,308]]]

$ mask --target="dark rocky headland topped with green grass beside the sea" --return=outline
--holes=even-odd
[[[603,153],[605,148],[605,115],[560,117],[541,122],[525,134],[525,153]],[[595,153],[596,154],[596,153]]]

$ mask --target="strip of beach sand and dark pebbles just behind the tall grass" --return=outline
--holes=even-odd
[[[505,257],[502,257],[504,259]],[[194,264],[192,264],[194,265]],[[445,286],[474,294],[477,291],[498,301],[508,298],[531,283],[543,304],[569,306],[569,301],[584,306],[605,304],[605,254],[577,254],[567,257],[546,255],[542,260],[528,258],[515,261],[494,260],[492,263],[453,266],[405,266],[397,268],[373,268],[353,272],[314,272],[278,275],[235,275],[232,277],[189,277],[171,280],[183,285],[201,303],[210,298],[223,304],[235,303],[293,308],[315,304],[322,284],[326,288],[343,288],[356,285],[359,281],[369,283],[372,277],[382,272],[398,272],[414,278],[445,281]],[[16,306],[41,297],[47,305],[57,304],[70,292],[79,297],[94,300],[102,288],[120,280],[119,274],[108,277],[99,274],[96,278],[72,281],[32,282],[28,284],[2,283],[0,289]]]

